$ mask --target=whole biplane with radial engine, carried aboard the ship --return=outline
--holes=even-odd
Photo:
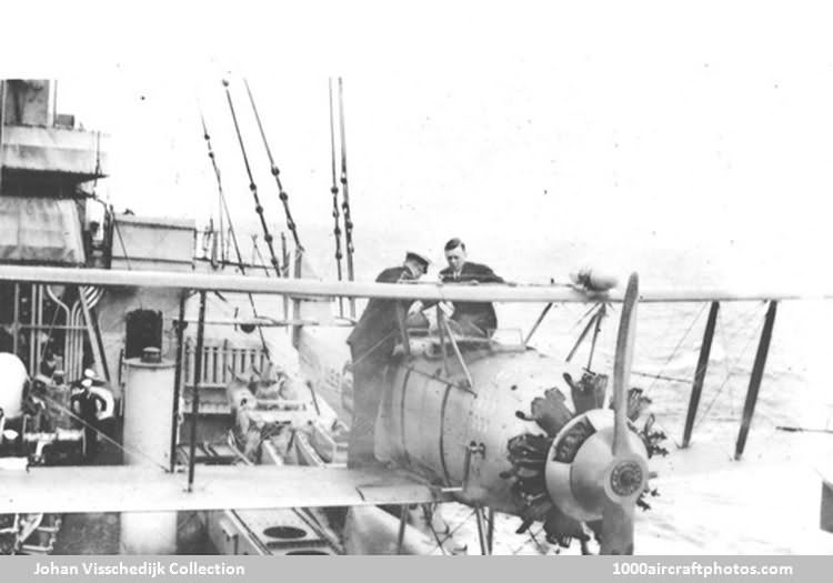
[[[442,285],[268,279],[167,272],[69,270],[4,265],[0,281],[84,287],[165,288],[273,294],[300,305],[310,299],[383,298],[422,301],[610,302],[621,304],[612,390],[589,374],[574,381],[561,363],[526,345],[455,338],[448,329],[409,338],[392,359],[377,424],[377,451],[389,469],[228,466],[181,472],[147,466],[31,468],[3,471],[0,513],[161,512],[395,505],[459,501],[478,511],[482,551],[491,547],[484,509],[544,524],[548,540],[585,543],[602,553],[633,553],[634,509],[650,489],[649,458],[661,448],[649,424],[639,429],[639,393],[629,391],[640,302],[711,302],[701,349],[707,363],[717,302],[769,300],[735,455],[743,453],[766,361],[777,302],[790,292],[640,290],[563,285]],[[820,294],[824,299],[830,295]],[[300,313],[300,312],[299,312]],[[545,313],[545,312],[544,312]],[[293,320],[295,335],[314,322]],[[204,310],[198,325],[204,324]],[[341,366],[341,363],[332,366]],[[691,394],[685,441],[696,414],[703,366]],[[609,406],[610,405],[610,406]],[[60,487],[56,487],[60,484]],[[404,521],[404,512],[402,513]],[[401,531],[400,531],[401,532]],[[401,541],[400,541],[401,545]]]

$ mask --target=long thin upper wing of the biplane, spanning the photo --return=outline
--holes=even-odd
[[[243,275],[215,275],[165,271],[117,271],[2,265],[0,281],[69,283],[79,285],[128,285],[183,290],[272,293],[293,296],[384,298],[458,302],[621,302],[623,292],[584,293],[565,284],[553,285],[443,285],[441,283],[360,283],[323,282]],[[791,290],[786,288],[726,289],[646,289],[640,302],[711,302],[750,300],[833,299],[833,291]]]

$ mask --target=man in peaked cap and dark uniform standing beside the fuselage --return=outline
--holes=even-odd
[[[402,265],[382,271],[378,283],[415,281],[428,271],[429,261],[409,251]],[[373,298],[348,336],[353,360],[353,423],[348,446],[348,466],[377,464],[373,429],[384,390],[384,370],[399,336],[399,318],[410,301]],[[398,314],[398,311],[401,311]]]

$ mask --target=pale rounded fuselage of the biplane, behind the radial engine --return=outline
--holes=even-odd
[[[319,394],[347,412],[352,382],[342,374],[344,354],[332,359],[333,336],[303,331],[300,352]],[[313,354],[311,349],[319,349]],[[463,503],[515,512],[508,443],[529,433],[544,436],[528,415],[532,401],[559,388],[572,409],[563,364],[534,349],[494,342],[461,343],[465,362],[439,336],[411,340],[410,354],[391,358],[375,431],[377,456],[454,489]],[[469,386],[471,378],[471,386]],[[518,413],[521,413],[519,415]],[[349,422],[349,418],[342,418]]]

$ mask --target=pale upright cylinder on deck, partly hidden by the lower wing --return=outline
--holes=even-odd
[[[124,461],[161,472],[171,461],[174,363],[162,360],[158,349],[147,349],[141,359],[126,363]],[[121,550],[124,554],[175,553],[177,513],[123,512]]]

